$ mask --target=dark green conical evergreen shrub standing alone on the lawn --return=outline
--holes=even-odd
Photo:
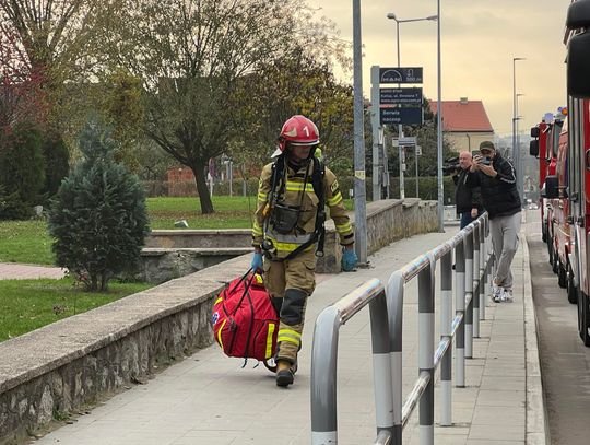
[[[106,291],[118,273],[135,269],[148,232],[145,195],[137,176],[114,161],[116,144],[101,125],[82,130],[83,160],[51,203],[49,233],[58,266],[90,291]]]

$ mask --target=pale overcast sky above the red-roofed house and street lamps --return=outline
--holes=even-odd
[[[570,0],[441,0],[442,99],[481,99],[497,134],[511,133],[512,58],[520,131],[566,105],[564,24]],[[352,42],[351,0],[308,0]],[[397,65],[396,22],[436,15],[436,0],[361,0],[363,85],[373,65]],[[400,24],[401,66],[424,67],[424,94],[436,99],[436,22]],[[352,73],[347,79],[352,83]]]

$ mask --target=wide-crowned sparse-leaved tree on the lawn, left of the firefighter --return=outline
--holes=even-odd
[[[240,83],[304,36],[314,47],[322,25],[305,15],[303,0],[122,3],[125,26],[115,26],[110,44],[117,63],[142,77],[146,133],[192,169],[201,211],[211,213],[205,172],[239,131],[244,101],[251,99],[239,94]]]

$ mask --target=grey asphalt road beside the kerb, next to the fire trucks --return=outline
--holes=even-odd
[[[590,444],[590,348],[577,330],[576,305],[548,264],[539,211],[528,211],[532,293],[551,445]]]

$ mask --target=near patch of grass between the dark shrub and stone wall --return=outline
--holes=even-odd
[[[106,294],[87,293],[71,278],[0,280],[0,341],[143,291],[146,283],[109,282]]]

